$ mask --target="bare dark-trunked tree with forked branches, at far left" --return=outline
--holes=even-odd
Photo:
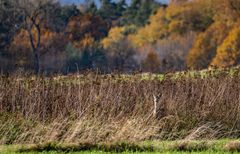
[[[46,25],[51,14],[56,9],[54,0],[9,0],[14,6],[23,22],[18,27],[24,28],[28,33],[28,41],[33,54],[35,73],[40,72],[40,48],[42,42],[42,26]]]

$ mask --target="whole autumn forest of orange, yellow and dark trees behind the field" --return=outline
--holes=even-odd
[[[240,63],[240,1],[1,0],[3,73],[172,72]]]

